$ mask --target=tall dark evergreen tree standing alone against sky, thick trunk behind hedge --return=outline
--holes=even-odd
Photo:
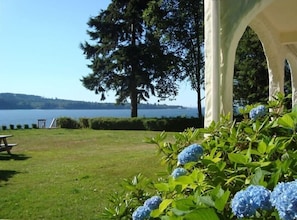
[[[107,10],[90,18],[88,34],[95,42],[81,48],[92,70],[83,85],[101,94],[116,91],[117,103],[131,101],[131,117],[137,104],[150,95],[166,99],[177,95],[180,71],[174,53],[162,46],[148,27],[143,12],[150,0],[113,0]]]

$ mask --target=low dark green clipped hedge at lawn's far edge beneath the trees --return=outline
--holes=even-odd
[[[57,119],[61,128],[91,128],[95,130],[151,130],[183,131],[186,128],[203,127],[199,118],[79,118],[62,117]]]

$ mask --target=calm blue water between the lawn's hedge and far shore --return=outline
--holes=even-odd
[[[197,117],[196,108],[183,109],[139,109],[139,117]],[[66,109],[50,109],[50,110],[0,110],[0,126],[10,124],[37,124],[38,119],[45,119],[48,127],[54,118],[70,117],[78,118],[96,118],[96,117],[130,117],[130,109],[96,109],[96,110],[66,110]]]

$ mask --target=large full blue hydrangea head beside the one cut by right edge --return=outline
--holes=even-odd
[[[251,217],[256,214],[257,209],[269,210],[270,191],[263,186],[251,185],[234,195],[231,200],[231,208],[238,218]]]

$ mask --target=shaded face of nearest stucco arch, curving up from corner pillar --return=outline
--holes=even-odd
[[[233,112],[233,73],[238,42],[252,19],[272,1],[221,1],[221,114]],[[230,8],[232,12],[225,14]]]

